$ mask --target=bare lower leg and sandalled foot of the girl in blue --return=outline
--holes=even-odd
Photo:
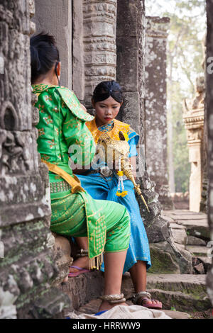
[[[129,270],[135,292],[146,291],[146,261],[137,261]],[[138,301],[143,305],[143,297]],[[146,305],[161,305],[158,300],[146,299]]]

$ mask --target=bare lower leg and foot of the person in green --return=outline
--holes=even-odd
[[[126,251],[104,254],[104,295],[121,293],[122,273],[125,259]],[[126,305],[126,303],[109,304],[104,300],[102,305],[99,307],[99,311],[109,310],[111,307],[116,305]]]

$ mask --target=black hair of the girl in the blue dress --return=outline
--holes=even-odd
[[[94,89],[92,100],[94,103],[104,101],[111,96],[118,103],[123,102],[121,86],[116,81],[103,81]]]

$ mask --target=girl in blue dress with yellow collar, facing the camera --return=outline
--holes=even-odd
[[[115,81],[104,81],[97,85],[92,96],[92,105],[95,109],[95,119],[87,123],[87,127],[97,143],[103,132],[109,137],[119,140],[119,132],[122,132],[129,143],[129,158],[133,168],[136,167],[136,145],[139,135],[126,123],[116,120],[123,103],[121,87]],[[78,173],[78,171],[76,171]],[[136,170],[133,169],[136,174]],[[126,196],[117,196],[118,176],[116,171],[107,170],[102,163],[93,165],[87,174],[77,174],[82,187],[94,199],[115,201],[124,205],[131,217],[131,238],[126,255],[124,273],[129,271],[135,294],[133,303],[149,308],[161,309],[162,304],[158,300],[151,300],[151,295],[146,292],[146,271],[151,267],[151,257],[146,230],[141,219],[138,202],[129,179],[124,179]],[[124,176],[125,177],[125,176]],[[87,249],[87,238],[78,238],[78,244],[82,249]],[[85,259],[75,261],[75,268],[70,269],[70,276],[77,275],[77,268],[84,269]],[[104,270],[104,266],[102,267]]]

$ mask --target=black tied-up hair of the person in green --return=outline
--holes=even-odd
[[[55,64],[55,73],[60,62],[55,38],[48,33],[39,33],[31,37],[31,81],[38,79],[40,74],[46,74]],[[57,74],[57,73],[56,73]]]

